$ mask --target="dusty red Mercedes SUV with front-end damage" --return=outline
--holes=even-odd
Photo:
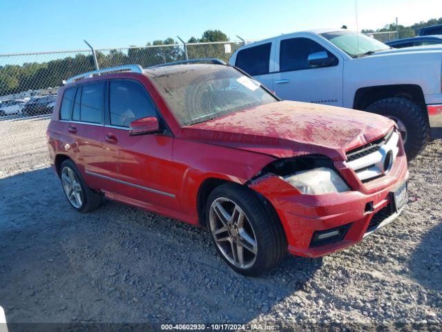
[[[390,223],[407,160],[383,116],[279,100],[238,68],[191,61],[85,73],[58,94],[50,158],[70,205],[104,196],[206,224],[244,275],[318,257]]]

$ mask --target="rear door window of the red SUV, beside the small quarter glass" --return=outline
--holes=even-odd
[[[104,82],[85,84],[81,89],[80,121],[101,123]]]

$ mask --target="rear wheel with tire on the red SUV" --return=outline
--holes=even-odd
[[[95,190],[92,190],[86,185],[83,177],[78,172],[77,166],[75,165],[73,160],[67,159],[64,160],[63,163],[61,163],[59,175],[61,186],[63,187],[66,199],[68,199],[68,202],[75,210],[86,213],[91,210],[95,210],[96,208],[99,208],[100,205],[102,205],[104,201],[104,195],[101,192],[95,192]],[[74,185],[72,186],[76,189],[74,191],[78,191],[77,194],[79,194],[79,196],[73,194],[73,196],[76,198],[71,199],[69,197],[70,195],[68,194],[67,190],[66,178],[64,178],[65,175],[70,178],[71,184],[74,183]],[[73,182],[73,178],[75,178],[75,182]],[[78,201],[78,197],[80,197],[80,202]]]

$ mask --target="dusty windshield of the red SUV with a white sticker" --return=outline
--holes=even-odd
[[[231,66],[182,64],[145,73],[181,126],[276,102],[276,98]]]

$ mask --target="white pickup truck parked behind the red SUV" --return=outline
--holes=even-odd
[[[398,124],[408,158],[442,127],[442,48],[392,49],[349,30],[280,35],[237,50],[230,64],[284,100],[382,114]]]

